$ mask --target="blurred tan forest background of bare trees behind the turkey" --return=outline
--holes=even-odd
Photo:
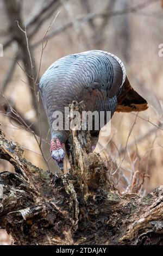
[[[115,113],[111,135],[100,139],[96,151],[106,164],[112,161],[109,176],[121,192],[143,195],[163,185],[162,8],[160,0],[0,0],[0,123],[28,161],[59,170],[50,158],[39,78],[62,56],[100,49],[123,61],[149,108],[139,115]],[[14,171],[0,160],[4,170]],[[0,230],[0,243],[9,241]]]

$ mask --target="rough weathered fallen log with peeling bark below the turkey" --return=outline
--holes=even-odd
[[[162,245],[163,186],[145,197],[120,194],[99,154],[91,153],[90,133],[72,131],[69,141],[70,172],[52,174],[0,132],[0,158],[15,168],[0,174],[1,228],[18,245]]]

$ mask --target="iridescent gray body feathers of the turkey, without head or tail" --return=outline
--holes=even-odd
[[[40,92],[51,126],[65,142],[67,131],[53,131],[54,111],[64,112],[73,100],[84,101],[86,111],[111,111],[117,107],[117,94],[126,78],[124,65],[111,53],[92,50],[58,59],[42,75]],[[91,132],[93,136],[93,131]],[[98,137],[98,132],[95,134]]]

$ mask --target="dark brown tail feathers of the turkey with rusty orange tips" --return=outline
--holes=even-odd
[[[116,112],[140,112],[148,108],[147,101],[130,86],[127,77],[117,100]]]

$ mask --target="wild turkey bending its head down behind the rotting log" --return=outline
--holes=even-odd
[[[122,61],[114,54],[91,50],[71,54],[55,61],[40,79],[40,92],[51,127],[52,157],[63,169],[68,131],[53,130],[53,113],[61,111],[73,100],[83,101],[86,111],[143,111],[148,108],[130,86]],[[92,144],[98,141],[99,130],[90,131]]]

